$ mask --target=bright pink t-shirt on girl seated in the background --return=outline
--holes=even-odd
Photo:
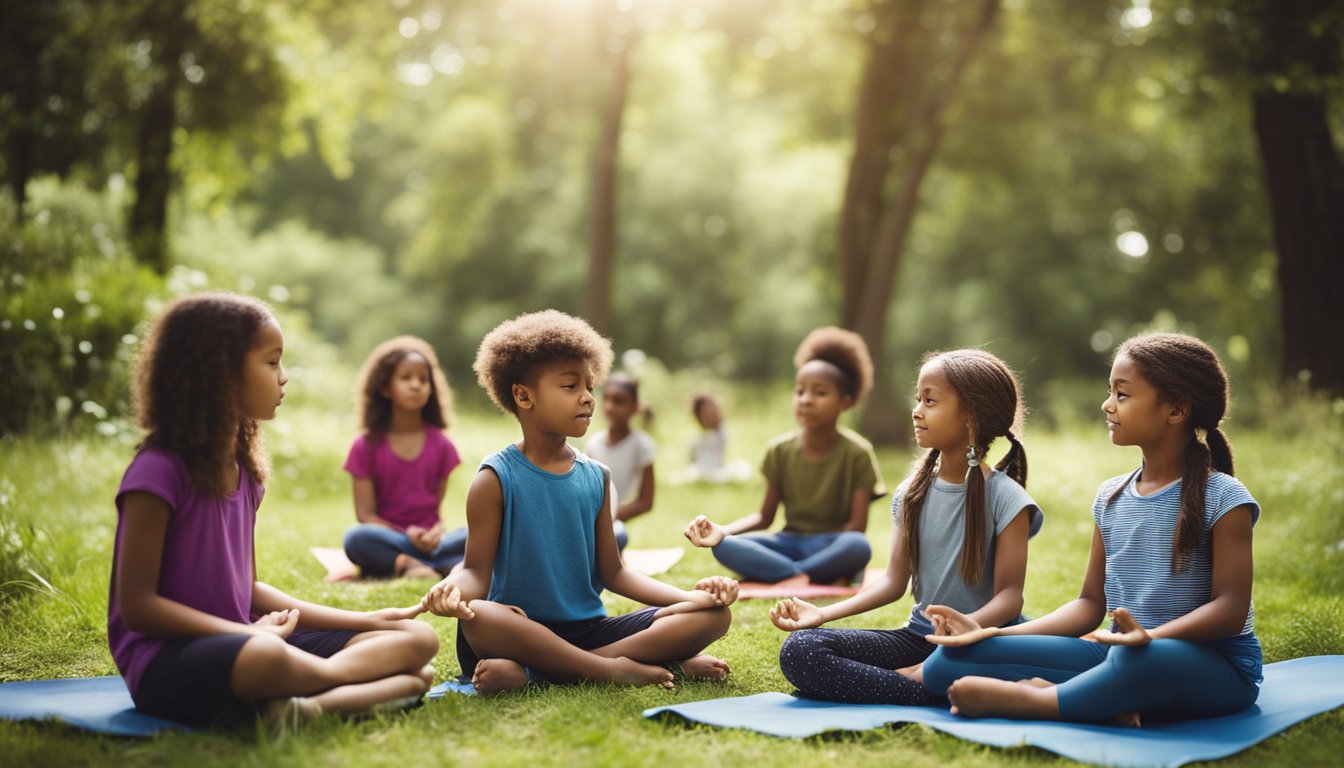
[[[345,471],[355,477],[374,480],[378,516],[396,530],[410,526],[433,527],[438,522],[439,486],[462,460],[446,434],[425,429],[425,448],[414,459],[392,452],[386,438],[355,438],[345,457]]]

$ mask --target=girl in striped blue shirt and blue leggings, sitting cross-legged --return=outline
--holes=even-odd
[[[1078,722],[1193,718],[1249,707],[1261,647],[1251,604],[1259,504],[1232,477],[1219,429],[1227,374],[1208,344],[1148,334],[1121,344],[1102,402],[1116,445],[1144,461],[1102,484],[1078,599],[1012,627],[926,613],[925,685],[953,713]],[[1097,629],[1110,615],[1109,628]]]

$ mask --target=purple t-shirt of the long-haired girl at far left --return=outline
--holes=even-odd
[[[117,491],[117,541],[108,596],[108,647],[126,687],[134,694],[145,666],[164,646],[126,628],[117,599],[117,566],[122,554],[122,499],[148,491],[172,508],[159,565],[159,594],[220,619],[251,621],[253,529],[265,488],[241,468],[238,488],[216,499],[191,484],[187,464],[176,453],[145,448],[130,461]]]

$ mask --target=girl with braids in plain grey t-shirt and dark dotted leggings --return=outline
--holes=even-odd
[[[798,599],[770,609],[793,632],[780,668],[808,698],[845,703],[941,703],[919,682],[937,646],[925,640],[930,604],[952,605],[985,627],[1020,620],[1027,539],[1042,525],[1027,495],[1027,452],[1013,425],[1021,416],[1017,379],[980,350],[929,355],[915,386],[915,443],[926,448],[891,499],[887,572],[859,594],[816,607]],[[991,469],[985,453],[1005,437],[1008,453]],[[910,621],[898,629],[812,629],[900,599],[914,582]]]

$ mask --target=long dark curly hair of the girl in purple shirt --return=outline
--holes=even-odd
[[[140,350],[133,394],[141,448],[181,456],[208,496],[233,491],[224,471],[234,460],[255,482],[266,480],[261,428],[239,401],[243,359],[274,321],[270,307],[250,296],[198,293],[169,304]]]

